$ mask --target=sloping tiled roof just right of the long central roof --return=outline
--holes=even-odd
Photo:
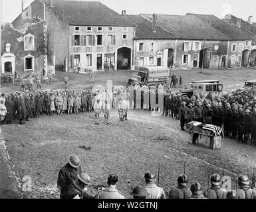
[[[202,15],[194,13],[187,13],[186,15],[188,17],[197,17],[207,25],[210,25],[219,32],[225,34],[229,40],[251,40],[249,33],[241,30],[241,28],[238,28],[237,26],[229,25],[229,23],[226,23],[214,15]]]

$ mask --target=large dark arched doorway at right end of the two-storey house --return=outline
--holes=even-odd
[[[128,47],[118,48],[117,50],[117,70],[131,69],[131,53],[132,50]]]

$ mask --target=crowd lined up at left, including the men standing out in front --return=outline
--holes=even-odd
[[[19,119],[23,125],[32,118],[42,115],[71,115],[79,113],[95,113],[95,125],[99,125],[99,115],[104,114],[104,123],[108,125],[110,109],[118,109],[120,121],[127,120],[129,109],[128,94],[119,90],[111,96],[105,91],[72,90],[58,91],[17,91],[1,94],[0,117],[1,125],[12,124]]]

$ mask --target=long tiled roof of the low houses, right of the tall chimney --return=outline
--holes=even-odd
[[[142,14],[141,16],[152,21],[152,15]],[[178,39],[228,40],[227,36],[193,16],[157,15],[157,25]]]

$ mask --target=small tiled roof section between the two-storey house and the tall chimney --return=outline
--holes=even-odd
[[[152,23],[140,15],[124,15],[124,17],[136,25],[135,39],[175,39],[173,34],[159,26],[156,26],[156,32],[153,32]]]

